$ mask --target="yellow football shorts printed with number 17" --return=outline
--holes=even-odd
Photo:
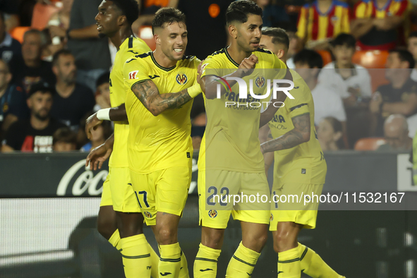
[[[131,170],[133,191],[148,226],[157,224],[157,212],[182,215],[191,175],[191,167],[171,167],[150,174]]]

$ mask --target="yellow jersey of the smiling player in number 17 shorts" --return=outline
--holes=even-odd
[[[131,88],[145,80],[152,80],[159,93],[180,92],[195,84],[200,60],[184,58],[171,68],[157,64],[152,52],[133,56],[123,67],[126,87],[126,111],[129,120],[128,164],[138,174],[169,167],[191,167],[190,112],[193,101],[177,109],[169,109],[153,116],[140,102]]]

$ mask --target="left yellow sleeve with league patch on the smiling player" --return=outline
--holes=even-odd
[[[131,58],[123,65],[123,79],[129,89],[136,83],[150,80],[148,73],[149,66],[143,59]]]

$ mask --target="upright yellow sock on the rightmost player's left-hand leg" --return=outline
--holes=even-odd
[[[298,247],[278,253],[278,277],[301,277],[300,255],[298,254]]]

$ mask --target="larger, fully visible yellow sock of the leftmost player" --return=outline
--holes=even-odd
[[[126,278],[149,278],[152,265],[145,235],[121,238],[120,245]]]

